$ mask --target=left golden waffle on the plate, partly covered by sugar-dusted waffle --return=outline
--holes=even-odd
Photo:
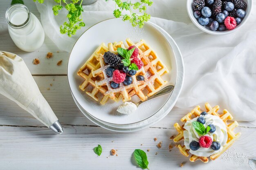
[[[108,99],[109,95],[104,95],[104,93],[108,90],[106,87],[102,86],[97,88],[95,85],[95,81],[102,80],[104,77],[103,75],[98,75],[96,77],[92,76],[92,70],[97,70],[98,68],[101,67],[100,62],[97,60],[97,57],[99,54],[104,54],[107,51],[115,51],[118,47],[124,46],[123,42],[115,42],[112,44],[111,48],[109,49],[105,43],[102,43],[96,51],[90,56],[90,58],[83,64],[83,66],[79,69],[77,72],[78,75],[80,75],[83,79],[84,82],[79,86],[79,88],[82,91],[85,91],[86,94],[88,94],[90,97],[92,97],[94,100],[98,101],[98,95],[101,94],[103,95],[101,99],[101,104],[105,104]],[[89,87],[90,86],[90,87]],[[115,101],[118,101],[120,98],[116,97]]]

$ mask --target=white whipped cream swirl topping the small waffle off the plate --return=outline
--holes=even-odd
[[[191,119],[187,121],[184,125],[184,145],[187,149],[189,148],[189,144],[191,141],[199,141],[199,138],[201,135],[198,134],[198,132],[195,131],[195,128],[193,128],[192,122],[196,121],[198,117],[195,117],[194,119]],[[196,155],[198,157],[209,157],[213,154],[216,154],[220,152],[223,148],[223,146],[227,143],[227,128],[222,119],[220,119],[218,116],[214,115],[204,115],[205,124],[204,126],[207,127],[209,124],[213,124],[216,127],[216,131],[213,133],[208,132],[206,136],[211,137],[212,141],[218,141],[220,143],[220,149],[219,150],[212,150],[211,147],[209,148],[199,148],[198,150],[189,150],[189,152],[193,155]]]

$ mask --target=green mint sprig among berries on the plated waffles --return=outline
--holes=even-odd
[[[130,57],[132,56],[133,51],[135,50],[135,47],[128,50],[123,48],[117,48],[117,52],[119,55],[124,57],[122,62],[124,63],[124,66],[128,66],[129,70],[139,70],[138,66],[135,63],[131,63]]]

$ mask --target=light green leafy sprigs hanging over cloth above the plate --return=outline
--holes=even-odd
[[[22,1],[22,0],[21,0]],[[34,2],[43,3],[44,0],[33,0]],[[82,12],[82,2],[83,0],[70,0],[70,3],[67,3],[67,0],[54,0],[56,5],[52,7],[54,15],[58,15],[58,12],[63,9],[68,11],[67,18],[68,21],[64,22],[63,25],[60,26],[60,32],[62,34],[67,34],[69,37],[76,34],[76,31],[81,29],[81,27],[85,26],[83,22]],[[108,1],[108,0],[106,0]],[[123,21],[129,20],[132,26],[139,26],[142,28],[144,26],[144,22],[147,22],[150,19],[150,15],[145,13],[147,7],[153,4],[150,0],[138,0],[134,4],[129,0],[113,0],[116,3],[116,9],[113,12],[113,15],[116,18],[123,17]],[[137,14],[132,11],[132,9],[138,9],[142,15]],[[124,14],[124,11],[129,11],[130,14]]]

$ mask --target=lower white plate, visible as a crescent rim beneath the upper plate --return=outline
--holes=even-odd
[[[164,31],[162,28],[160,28],[159,26],[157,26],[153,23],[150,23],[150,24],[152,26],[154,26],[157,30],[159,30],[166,37],[168,42],[173,47],[173,51],[176,54],[177,81],[176,81],[175,88],[173,90],[173,93],[172,93],[170,99],[168,100],[166,105],[161,109],[162,110],[161,112],[156,113],[155,115],[153,115],[152,117],[150,117],[144,121],[140,121],[135,124],[127,124],[127,125],[108,124],[104,121],[100,121],[99,119],[95,119],[94,117],[90,116],[90,114],[88,114],[85,110],[83,110],[83,108],[81,108],[81,106],[79,106],[79,104],[74,99],[76,105],[81,110],[81,112],[95,124],[97,124],[103,128],[106,128],[108,130],[117,131],[117,132],[134,132],[137,130],[142,130],[144,128],[152,126],[153,124],[155,124],[158,121],[160,121],[161,119],[163,119],[170,112],[171,108],[173,108],[175,102],[177,101],[177,98],[180,95],[180,91],[182,89],[182,84],[183,84],[183,80],[184,80],[184,64],[183,64],[183,60],[182,60],[182,55],[180,53],[180,50],[179,50],[177,44],[171,38],[171,36],[168,33],[166,33],[166,31]]]

